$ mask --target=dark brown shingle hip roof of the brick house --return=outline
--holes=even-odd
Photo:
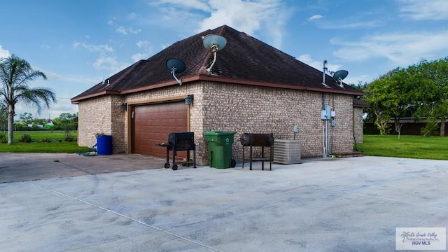
[[[213,55],[204,48],[202,43],[202,37],[207,34],[218,34],[227,39],[225,48],[218,51],[211,75],[205,68],[212,61]],[[104,82],[94,85],[73,97],[71,101],[76,103],[82,99],[102,94],[129,93],[164,84],[177,85],[165,66],[167,59],[172,57],[179,58],[186,63],[186,71],[177,75],[178,78],[183,79],[184,83],[185,79],[188,82],[213,77],[215,81],[229,82],[232,80],[232,83],[241,81],[253,85],[262,83],[262,85],[274,87],[363,94],[349,85],[344,84],[344,88],[339,87],[338,83],[328,75],[325,76],[325,83],[328,87],[325,87],[322,85],[322,71],[304,64],[244,32],[224,25],[178,41],[152,57],[140,60],[107,78]]]

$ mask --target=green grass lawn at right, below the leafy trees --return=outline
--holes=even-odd
[[[448,160],[448,137],[364,135],[357,147],[364,155]]]

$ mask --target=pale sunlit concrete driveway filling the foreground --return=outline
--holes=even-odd
[[[1,183],[0,251],[395,251],[395,228],[447,227],[448,161],[303,161]]]

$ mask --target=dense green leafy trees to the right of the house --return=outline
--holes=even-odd
[[[399,137],[402,119],[412,117],[426,120],[422,135],[438,130],[444,136],[448,119],[448,57],[393,69],[356,87],[365,92],[361,100],[369,104],[364,109],[365,123],[374,123],[380,134],[388,134],[393,125]]]

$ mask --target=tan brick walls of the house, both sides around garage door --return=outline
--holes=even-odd
[[[190,131],[195,132],[199,165],[208,164],[204,132],[211,130],[237,132],[232,155],[240,160],[241,134],[273,133],[275,139],[293,139],[293,126],[298,125],[296,139],[302,140],[302,158],[323,155],[325,124],[321,120],[321,93],[209,82],[186,83],[123,97],[109,95],[82,101],[79,104],[78,144],[92,146],[96,142],[96,133],[112,134],[113,153],[126,153],[130,148],[130,112],[121,111],[120,104],[148,104],[188,94],[195,95],[190,106]],[[332,106],[336,112],[335,127],[328,127],[330,152],[351,151],[352,97],[325,94],[325,105]]]

